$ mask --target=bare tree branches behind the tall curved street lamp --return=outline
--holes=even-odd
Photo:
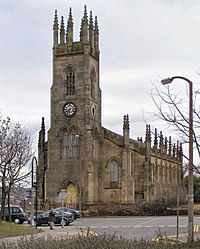
[[[155,104],[156,118],[163,120],[168,128],[171,128],[179,136],[180,141],[189,143],[189,110],[188,110],[188,90],[186,88],[185,97],[181,91],[173,90],[172,85],[162,86],[162,89],[153,84],[151,98]],[[200,157],[200,91],[193,93],[193,143],[195,151]],[[188,157],[184,154],[188,160]],[[194,165],[194,169],[200,174],[200,168]]]

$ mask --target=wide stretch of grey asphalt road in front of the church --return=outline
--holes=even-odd
[[[187,216],[179,217],[179,234],[187,233]],[[194,217],[194,225],[200,230],[200,217]],[[93,217],[80,218],[70,224],[70,228],[90,228],[97,234],[116,234],[128,239],[152,239],[158,234],[171,236],[177,234],[176,216],[150,216],[150,217]]]

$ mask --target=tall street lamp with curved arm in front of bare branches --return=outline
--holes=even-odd
[[[161,80],[163,85],[170,84],[174,79],[182,79],[189,84],[189,175],[188,175],[188,240],[193,241],[194,223],[194,190],[193,190],[193,93],[192,81],[182,76],[174,76]]]

